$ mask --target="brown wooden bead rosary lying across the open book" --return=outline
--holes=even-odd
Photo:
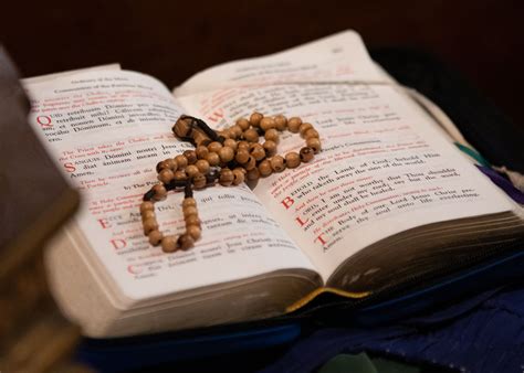
[[[284,130],[300,132],[306,146],[300,152],[291,151],[285,157],[276,154],[279,134]],[[196,149],[186,150],[175,158],[168,158],[157,164],[159,183],[155,184],[140,204],[144,234],[153,246],[161,245],[165,253],[177,249],[187,251],[201,236],[197,202],[192,198],[193,189],[214,185],[238,185],[244,180],[256,181],[285,168],[294,169],[301,162],[310,162],[321,151],[318,132],[313,125],[301,118],[286,119],[283,115],[264,117],[253,113],[249,119],[241,118],[234,126],[214,131],[198,118],[182,115],[172,127],[175,136],[191,142]],[[259,143],[259,137],[264,142]],[[182,201],[186,233],[164,235],[158,230],[155,216],[157,201],[167,198],[170,190],[184,189]]]

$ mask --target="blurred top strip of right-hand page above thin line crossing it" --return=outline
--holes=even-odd
[[[268,56],[210,67],[176,88],[176,96],[239,85],[325,83],[347,79],[382,81],[360,36],[353,31],[340,32]]]

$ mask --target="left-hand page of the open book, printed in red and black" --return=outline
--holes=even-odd
[[[313,269],[245,185],[196,191],[202,220],[196,248],[165,254],[149,245],[142,196],[157,183],[157,162],[192,148],[175,139],[171,127],[182,111],[158,81],[95,71],[25,86],[31,125],[82,192],[75,220],[94,255],[82,254],[105,268],[129,301],[283,268]],[[185,231],[182,194],[156,204],[166,234]]]

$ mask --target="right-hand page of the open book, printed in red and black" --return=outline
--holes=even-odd
[[[300,71],[296,64],[310,56],[319,66],[310,74],[318,71],[327,82],[301,82],[291,67],[291,83],[285,74],[266,83],[242,77],[245,71],[265,76],[264,66],[273,65]],[[353,32],[226,67],[198,76],[214,82],[210,90],[193,88],[190,79],[177,98],[219,127],[258,110],[300,116],[321,134],[324,149],[314,161],[260,180],[254,192],[324,280],[347,257],[395,233],[513,207],[401,88],[355,84],[386,81]],[[217,89],[221,75],[229,81]],[[277,153],[303,146],[298,135],[286,132]]]

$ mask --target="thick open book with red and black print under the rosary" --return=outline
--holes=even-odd
[[[59,305],[87,335],[269,318],[322,291],[366,297],[524,234],[521,207],[355,32],[216,66],[172,93],[118,66],[24,84],[32,126],[84,196],[46,265]],[[176,119],[188,114],[220,129],[255,110],[314,124],[323,151],[253,190],[197,191],[196,247],[151,247],[138,205],[157,162],[191,148],[174,137]],[[285,135],[279,153],[302,143]],[[163,231],[185,230],[181,200],[172,193],[157,204]]]

